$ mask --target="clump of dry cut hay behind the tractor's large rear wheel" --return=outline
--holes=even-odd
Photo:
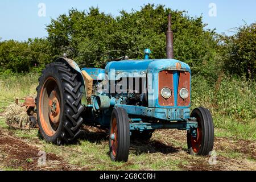
[[[11,127],[16,129],[30,128],[30,117],[26,112],[26,107],[12,104],[7,107],[4,116],[6,118],[6,124]]]

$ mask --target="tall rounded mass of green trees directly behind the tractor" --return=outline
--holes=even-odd
[[[104,67],[122,52],[102,56],[106,51],[122,50],[131,59],[142,59],[144,49],[152,49],[152,59],[166,57],[167,15],[172,12],[175,58],[190,64],[194,74],[216,77],[214,58],[217,41],[213,31],[204,30],[202,17],[192,18],[185,11],[171,11],[158,5],[143,6],[140,11],[114,18],[97,8],[85,11],[72,9],[68,15],[52,19],[47,26],[48,40],[55,55],[67,52],[84,67]]]

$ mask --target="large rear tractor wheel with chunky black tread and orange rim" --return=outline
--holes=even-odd
[[[68,144],[82,133],[81,86],[77,73],[68,64],[51,63],[42,72],[36,88],[36,106],[39,130],[47,142]]]

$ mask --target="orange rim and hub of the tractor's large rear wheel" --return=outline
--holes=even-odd
[[[44,82],[39,97],[39,117],[44,133],[55,135],[60,123],[60,92],[55,78],[49,77]]]

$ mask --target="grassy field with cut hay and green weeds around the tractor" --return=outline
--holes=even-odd
[[[16,96],[35,96],[39,75],[1,76],[0,113]],[[108,131],[84,127],[85,137],[70,146],[55,146],[37,130],[20,131],[0,119],[0,168],[5,170],[256,170],[256,84],[244,78],[217,82],[193,78],[192,107],[208,107],[215,125],[216,158],[187,154],[185,131],[159,130],[148,142],[131,142],[129,162],[108,156]],[[3,117],[0,115],[0,118]],[[38,152],[47,164],[38,166]],[[216,159],[211,165],[209,161]],[[215,160],[213,160],[215,161]]]

